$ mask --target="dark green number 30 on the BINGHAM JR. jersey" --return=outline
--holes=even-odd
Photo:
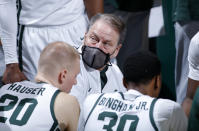
[[[118,116],[115,112],[105,111],[105,112],[102,112],[102,113],[99,114],[98,120],[104,121],[105,117],[111,118],[111,120],[110,120],[108,125],[104,125],[103,129],[106,129],[107,131],[112,131],[112,127],[114,127],[115,124],[117,123]],[[129,131],[135,131],[136,130],[139,118],[136,115],[124,114],[120,118],[119,124],[117,126],[117,131],[123,131],[124,130],[124,126],[125,126],[127,120],[133,120],[130,124]]]

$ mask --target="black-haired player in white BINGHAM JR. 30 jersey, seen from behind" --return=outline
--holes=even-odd
[[[126,93],[88,96],[83,106],[85,131],[185,131],[181,106],[156,99],[160,92],[160,62],[149,52],[137,52],[124,64]]]

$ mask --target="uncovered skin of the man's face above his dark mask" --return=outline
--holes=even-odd
[[[114,58],[121,48],[121,44],[118,44],[119,38],[118,31],[103,20],[98,20],[85,34],[84,45],[99,48],[110,54],[110,58]]]

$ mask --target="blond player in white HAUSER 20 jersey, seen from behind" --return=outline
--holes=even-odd
[[[2,131],[76,131],[79,104],[67,93],[80,72],[77,51],[63,42],[41,53],[36,81],[7,84],[0,89]]]

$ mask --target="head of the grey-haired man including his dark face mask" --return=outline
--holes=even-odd
[[[121,48],[120,34],[123,31],[124,23],[117,16],[112,14],[93,16],[84,37],[83,61],[95,69],[104,67],[109,58],[117,56]]]

